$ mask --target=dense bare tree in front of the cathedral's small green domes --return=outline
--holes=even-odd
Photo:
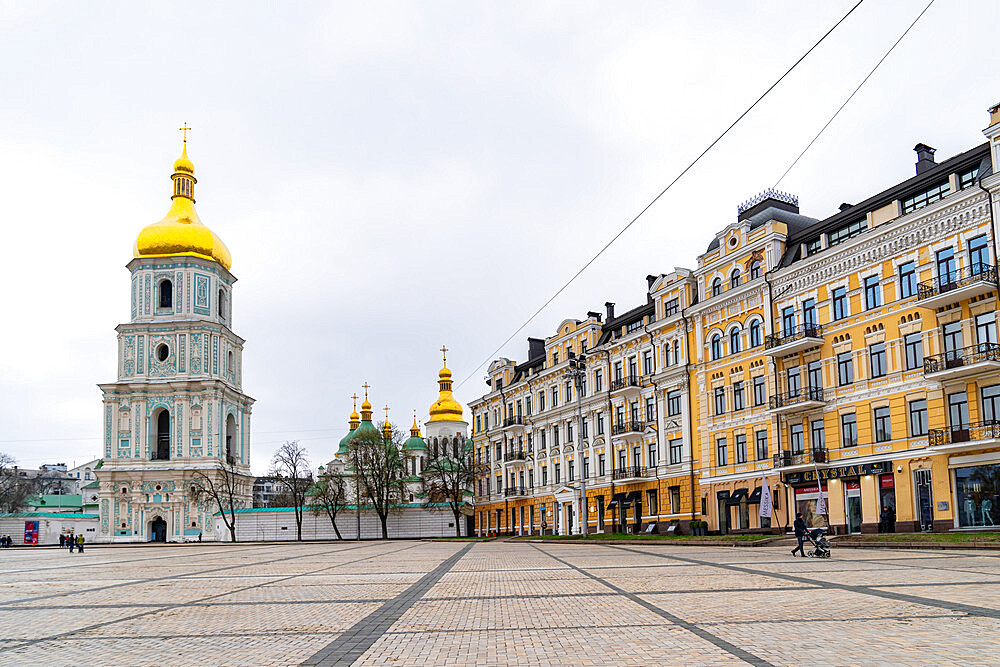
[[[348,443],[348,465],[353,470],[359,498],[367,499],[382,523],[382,539],[389,538],[389,513],[400,508],[406,498],[406,453],[402,433],[393,429],[386,438],[365,431]]]

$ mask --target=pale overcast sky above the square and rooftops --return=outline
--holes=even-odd
[[[408,425],[438,348],[463,403],[491,352],[850,6],[0,0],[0,451],[101,451],[132,244],[183,122],[239,279],[256,471],[313,462],[349,396]],[[919,13],[868,0],[504,350],[693,267]],[[782,183],[825,217],[984,141],[993,2],[939,1]]]

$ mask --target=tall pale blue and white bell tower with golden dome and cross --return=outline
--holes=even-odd
[[[232,258],[194,208],[194,165],[174,162],[170,210],[136,239],[117,380],[104,399],[101,542],[215,539],[216,511],[192,494],[223,466],[250,474],[243,344],[234,333]],[[241,499],[250,506],[250,495]]]

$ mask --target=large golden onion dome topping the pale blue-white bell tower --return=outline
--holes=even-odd
[[[187,157],[187,142],[180,158],[174,162],[174,194],[170,210],[163,220],[154,222],[139,232],[132,255],[134,257],[172,257],[190,255],[210,259],[227,271],[233,264],[229,248],[212,230],[202,224],[194,210],[194,165]]]

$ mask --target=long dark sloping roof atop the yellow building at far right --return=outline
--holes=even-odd
[[[954,157],[948,158],[931,169],[927,169],[916,176],[897,183],[891,188],[883,190],[862,202],[842,208],[829,218],[820,220],[814,225],[801,228],[795,233],[792,233],[791,228],[789,228],[788,244],[785,249],[785,256],[781,259],[781,266],[788,266],[801,259],[799,257],[800,244],[810,241],[820,234],[831,232],[845,224],[859,220],[865,217],[869,211],[882,208],[896,199],[905,199],[907,195],[926,190],[935,183],[946,180],[951,173],[963,172],[966,169],[980,166],[984,159],[989,159],[989,155],[989,143],[980,144],[964,153],[959,153]]]

